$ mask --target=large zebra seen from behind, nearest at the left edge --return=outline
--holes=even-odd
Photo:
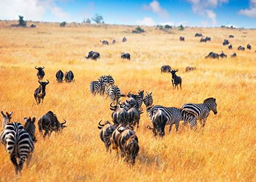
[[[30,132],[35,133],[35,128],[34,131]],[[23,169],[23,163],[25,162],[26,158],[27,166],[32,158],[32,153],[34,152],[35,148],[32,140],[34,136],[30,136],[30,134],[24,130],[23,125],[18,122],[6,124],[0,136],[1,143],[4,144],[7,152],[10,154],[10,160],[13,163],[16,174],[18,174],[18,172],[21,172]],[[19,158],[19,164],[16,160],[17,157]]]

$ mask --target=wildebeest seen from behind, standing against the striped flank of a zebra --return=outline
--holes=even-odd
[[[147,126],[148,129],[152,129],[155,136],[157,133],[160,137],[165,135],[165,125],[168,121],[166,113],[163,110],[157,109],[153,115],[151,115],[151,121],[153,128]]]

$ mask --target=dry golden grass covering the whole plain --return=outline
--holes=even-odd
[[[36,29],[10,28],[16,22],[0,21],[0,109],[13,110],[12,121],[20,123],[25,116],[38,120],[52,110],[68,127],[46,140],[36,129],[38,142],[22,175],[15,175],[1,145],[0,181],[256,181],[256,30],[186,28],[167,34],[142,27],[146,33],[134,35],[125,32],[135,27],[124,25],[27,25],[32,23]],[[194,37],[197,32],[212,41],[200,43]],[[229,39],[230,34],[235,38]],[[121,42],[124,36],[127,42]],[[185,42],[179,36],[185,36]],[[222,46],[226,38],[233,50]],[[110,45],[102,46],[100,39]],[[252,50],[236,50],[247,43]],[[101,59],[85,59],[91,50],[101,53]],[[204,59],[209,52],[221,50],[227,55],[235,51],[238,56]],[[131,60],[121,59],[122,52],[129,52]],[[171,74],[160,73],[165,64],[179,69],[183,90],[172,90]],[[45,67],[44,80],[50,82],[43,105],[34,99],[39,85],[35,66]],[[197,69],[185,73],[187,66]],[[76,81],[57,83],[59,69],[72,70]],[[166,129],[164,138],[154,138],[146,129],[151,121],[144,112],[135,130],[140,152],[130,169],[115,153],[107,153],[99,138],[98,122],[111,120],[112,113],[110,99],[91,96],[89,90],[90,81],[100,75],[112,75],[124,94],[153,92],[154,104],[166,107],[214,97],[218,114],[210,113],[204,130],[200,124],[196,132],[180,128],[178,133],[174,129],[168,133]]]

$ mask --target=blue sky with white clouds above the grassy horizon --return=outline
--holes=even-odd
[[[256,28],[256,0],[0,0],[1,20],[82,22],[96,13],[106,24]]]

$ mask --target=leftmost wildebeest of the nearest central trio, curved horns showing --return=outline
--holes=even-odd
[[[105,124],[101,124],[101,121],[99,121],[98,126],[98,128],[101,130],[101,132],[99,133],[99,137],[101,138],[101,141],[104,142],[106,150],[108,152],[111,145],[110,139],[112,138],[112,133],[114,132],[116,127],[110,124],[108,121],[106,121]]]

